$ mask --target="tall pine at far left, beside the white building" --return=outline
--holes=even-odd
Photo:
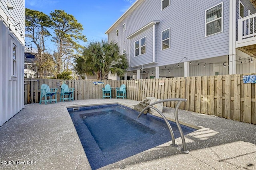
[[[49,27],[52,26],[52,21],[50,17],[44,14],[43,12],[30,10],[25,8],[25,37],[32,40],[36,47],[38,54],[36,55],[36,63],[38,65],[38,72],[40,78],[43,78],[44,75],[44,64],[47,59],[45,53],[45,41],[47,37],[51,36],[48,31]]]

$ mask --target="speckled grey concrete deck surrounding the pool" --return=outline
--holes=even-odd
[[[84,169],[90,164],[80,143],[67,107],[119,103],[134,100],[94,99],[29,104],[0,127],[0,169]],[[182,154],[171,142],[146,150],[101,170],[256,170],[256,125],[180,110],[179,120],[197,131],[185,136],[189,154]],[[164,107],[174,119],[174,109]]]

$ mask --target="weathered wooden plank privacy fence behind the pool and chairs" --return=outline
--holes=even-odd
[[[38,103],[40,86],[46,83],[50,88],[59,87],[61,80],[25,78],[25,104]],[[242,75],[196,76],[140,80],[108,80],[103,85],[94,85],[95,80],[65,80],[75,88],[74,100],[102,98],[105,84],[111,87],[126,85],[127,98],[142,101],[146,97],[159,99],[186,98],[180,109],[216,115],[236,121],[256,124],[256,86],[243,83]],[[60,92],[58,92],[60,93]],[[30,95],[32,94],[32,95]],[[113,97],[116,91],[112,91]],[[57,96],[59,101],[60,95]],[[107,99],[106,99],[107,100]],[[175,102],[164,106],[175,107]]]

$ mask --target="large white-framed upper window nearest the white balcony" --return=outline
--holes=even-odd
[[[223,31],[223,2],[205,10],[205,36]]]

